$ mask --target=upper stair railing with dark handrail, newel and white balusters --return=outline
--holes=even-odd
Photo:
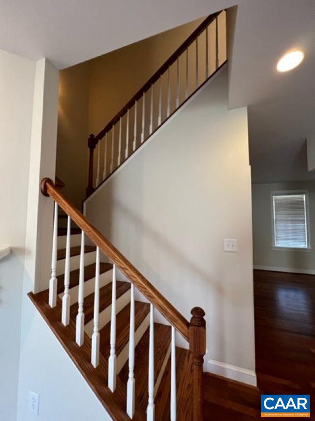
[[[87,197],[225,61],[225,11],[221,11],[208,16],[121,111],[97,135],[90,135]]]

